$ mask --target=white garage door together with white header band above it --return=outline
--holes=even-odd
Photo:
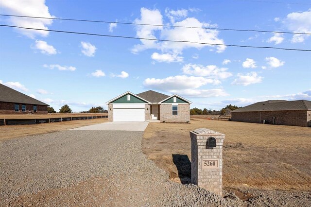
[[[113,121],[145,121],[145,104],[113,104]]]

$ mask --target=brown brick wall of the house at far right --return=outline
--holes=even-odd
[[[231,121],[262,123],[265,120],[268,124],[306,127],[311,125],[309,114],[311,111],[307,110],[232,112]]]

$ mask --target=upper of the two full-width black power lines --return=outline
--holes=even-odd
[[[240,32],[260,32],[260,33],[281,33],[281,34],[293,34],[293,35],[294,34],[296,34],[296,35],[311,35],[311,33],[293,33],[293,32],[264,31],[264,30],[242,30],[242,29],[226,29],[226,28],[213,28],[213,27],[190,27],[190,26],[175,26],[175,25],[162,25],[162,24],[140,24],[140,23],[130,23],[130,22],[100,21],[100,20],[56,18],[56,17],[31,17],[31,16],[2,15],[2,14],[0,14],[0,16],[5,16],[5,17],[42,18],[42,19],[67,20],[67,21],[84,21],[84,22],[98,22],[98,23],[114,23],[114,24],[127,24],[127,25],[140,25],[140,26],[156,26],[156,27],[177,27],[177,28],[225,30],[225,31],[240,31]]]

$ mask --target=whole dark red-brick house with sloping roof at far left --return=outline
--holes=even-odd
[[[0,84],[0,114],[47,114],[48,104]]]

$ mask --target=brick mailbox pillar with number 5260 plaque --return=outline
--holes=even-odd
[[[200,128],[190,132],[191,183],[223,194],[223,143],[225,135]]]

